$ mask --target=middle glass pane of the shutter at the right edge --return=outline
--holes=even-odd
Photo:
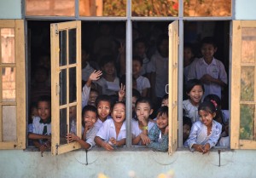
[[[241,67],[241,100],[254,101],[254,67]]]

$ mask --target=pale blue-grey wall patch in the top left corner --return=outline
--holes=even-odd
[[[0,0],[0,19],[21,19],[21,0]]]

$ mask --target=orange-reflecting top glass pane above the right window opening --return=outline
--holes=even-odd
[[[231,16],[232,0],[184,0],[184,16]]]

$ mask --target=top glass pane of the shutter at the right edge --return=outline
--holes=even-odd
[[[255,63],[256,28],[241,29],[241,62]]]

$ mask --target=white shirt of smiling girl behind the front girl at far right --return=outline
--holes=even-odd
[[[190,100],[183,100],[183,110],[184,116],[190,118],[192,123],[200,120],[198,116],[198,106],[192,105]]]

